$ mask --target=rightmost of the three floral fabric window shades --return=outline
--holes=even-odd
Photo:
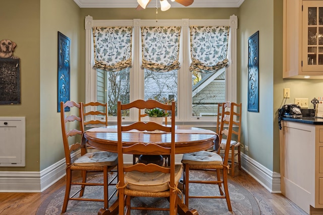
[[[210,73],[228,65],[229,26],[191,26],[190,71]]]

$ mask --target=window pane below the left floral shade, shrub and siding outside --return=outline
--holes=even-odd
[[[118,101],[121,101],[123,104],[130,101],[129,72],[130,68],[121,71],[97,69],[97,101],[107,102],[109,116],[117,116]],[[129,112],[123,113],[123,115],[129,116]]]

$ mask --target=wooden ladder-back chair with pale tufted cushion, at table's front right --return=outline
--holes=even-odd
[[[219,131],[219,141],[214,141],[215,144],[220,145],[223,138],[226,137],[226,144],[224,146],[225,152],[223,157],[217,152],[200,151],[195,153],[186,153],[183,155],[182,164],[184,167],[183,185],[185,190],[185,204],[189,205],[189,198],[225,198],[228,204],[229,211],[232,211],[229,189],[228,189],[228,171],[229,171],[229,151],[230,142],[233,128],[233,114],[231,114],[234,106],[230,102],[226,102],[222,107],[221,126]],[[229,110],[226,110],[229,108]],[[220,146],[219,146],[220,147]],[[214,170],[214,174],[217,177],[216,181],[212,180],[190,180],[189,171],[194,170]],[[222,174],[221,174],[222,173]],[[189,193],[190,183],[202,183],[202,184],[214,184],[218,185],[220,189],[220,195],[214,196],[192,196]],[[223,186],[222,186],[223,185]],[[201,194],[203,192],[201,191]]]

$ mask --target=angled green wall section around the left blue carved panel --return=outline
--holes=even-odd
[[[58,31],[71,39],[70,98],[85,101],[84,21],[73,0],[41,0],[40,170],[65,158],[58,106]]]

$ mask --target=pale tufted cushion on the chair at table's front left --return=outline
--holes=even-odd
[[[74,161],[75,166],[116,166],[118,153],[93,152],[87,153]]]

